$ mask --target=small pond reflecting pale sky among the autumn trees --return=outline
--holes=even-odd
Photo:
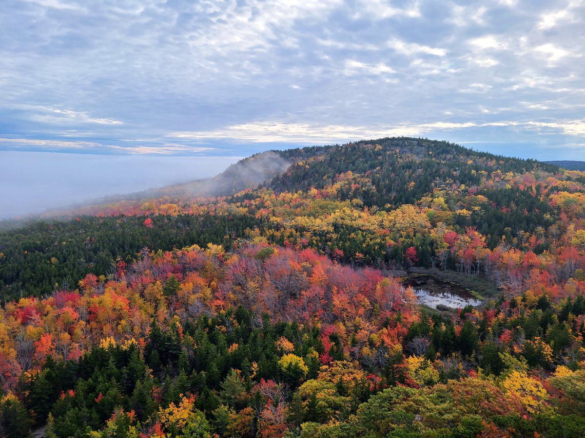
[[[407,277],[402,284],[404,287],[412,287],[418,300],[429,307],[436,308],[442,304],[456,309],[468,304],[473,306],[481,304],[481,300],[475,298],[466,288],[447,283],[436,277]]]

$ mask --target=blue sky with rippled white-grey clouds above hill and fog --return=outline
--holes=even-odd
[[[0,150],[585,159],[585,1],[4,0]]]

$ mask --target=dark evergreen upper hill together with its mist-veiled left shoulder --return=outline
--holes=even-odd
[[[277,191],[321,189],[331,185],[339,174],[352,172],[367,173],[376,189],[377,194],[366,199],[366,205],[400,205],[416,196],[415,193],[426,193],[442,181],[458,180],[468,186],[476,185],[481,179],[481,173],[477,172],[494,166],[503,173],[558,171],[554,164],[477,152],[446,141],[388,137],[261,152],[233,164],[214,178],[163,187],[157,194],[229,196],[261,185]],[[392,175],[400,177],[394,179]],[[414,192],[402,193],[402,184],[412,176],[416,185],[409,191]]]

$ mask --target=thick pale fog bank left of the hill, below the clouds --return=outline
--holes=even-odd
[[[0,218],[209,178],[240,158],[0,151]]]

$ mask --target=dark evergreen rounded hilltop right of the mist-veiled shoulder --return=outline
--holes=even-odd
[[[380,138],[314,151],[311,158],[292,165],[268,186],[279,191],[322,189],[340,174],[352,172],[366,176],[371,183],[360,187],[364,203],[383,207],[409,203],[446,184],[476,186],[494,170],[502,174],[559,170],[533,159],[503,157],[421,138]]]

